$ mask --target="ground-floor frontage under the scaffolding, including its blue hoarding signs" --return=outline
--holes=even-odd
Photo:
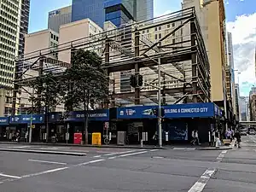
[[[89,143],[94,132],[101,133],[102,144],[118,144],[120,132],[125,142],[122,144],[153,144],[155,132],[159,134],[157,116],[153,113],[157,106],[134,106],[90,111],[88,135]],[[208,143],[212,131],[220,126],[221,112],[214,103],[189,103],[163,106],[165,115],[161,119],[164,144],[189,143],[191,132],[197,130],[201,143]],[[45,142],[46,127],[49,127],[50,142],[80,143],[84,132],[84,112],[71,112],[66,119],[62,113],[17,115],[0,119],[0,140],[9,141],[10,134],[19,132],[20,139],[27,141],[32,125],[32,142]],[[4,121],[4,120],[3,120]],[[48,122],[48,124],[46,124]]]

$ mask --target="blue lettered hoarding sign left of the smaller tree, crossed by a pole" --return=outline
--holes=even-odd
[[[44,124],[44,114],[24,114],[15,115],[9,118],[10,124],[30,124],[32,118],[32,124]]]

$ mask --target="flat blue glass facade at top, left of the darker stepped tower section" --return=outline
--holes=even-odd
[[[73,0],[72,22],[86,18],[103,27],[105,21],[104,0]]]

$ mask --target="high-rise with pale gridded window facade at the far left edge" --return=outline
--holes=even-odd
[[[23,34],[27,32],[30,1],[0,0],[0,115],[12,111],[12,89],[15,77],[15,57],[23,52]],[[14,96],[17,100],[17,96]],[[17,102],[19,103],[19,102]],[[14,106],[17,108],[17,106]]]

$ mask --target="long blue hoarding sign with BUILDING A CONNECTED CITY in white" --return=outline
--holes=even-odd
[[[118,108],[117,119],[153,119],[156,116],[153,109],[158,106],[135,106],[129,108]],[[196,118],[213,117],[214,103],[189,103],[163,106],[165,118]]]

